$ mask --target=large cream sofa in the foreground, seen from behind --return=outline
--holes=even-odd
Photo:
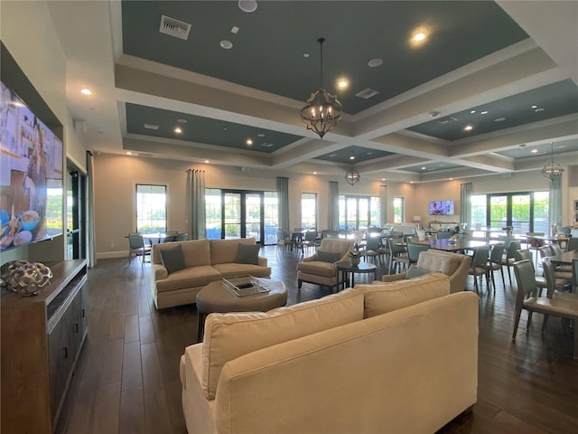
[[[433,433],[477,400],[478,296],[431,273],[211,314],[181,358],[189,434]]]

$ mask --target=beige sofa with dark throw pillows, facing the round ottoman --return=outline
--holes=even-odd
[[[267,259],[255,257],[256,263],[239,263],[239,244],[256,246],[254,238],[237,240],[193,240],[154,244],[153,297],[157,309],[195,303],[200,289],[221,278],[255,276],[268,278]],[[161,252],[181,246],[184,268],[169,273]]]

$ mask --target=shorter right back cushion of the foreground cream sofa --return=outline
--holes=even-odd
[[[365,295],[365,317],[369,318],[431,298],[447,296],[450,294],[450,278],[442,273],[433,272],[409,280],[356,285],[355,289]]]

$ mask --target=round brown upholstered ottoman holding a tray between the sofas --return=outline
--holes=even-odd
[[[212,313],[266,312],[287,303],[287,288],[280,280],[266,280],[269,292],[237,297],[218,280],[202,288],[197,294],[197,342],[202,340],[205,318]]]

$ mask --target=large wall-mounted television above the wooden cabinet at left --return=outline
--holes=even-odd
[[[0,81],[0,249],[62,234],[62,141]]]

